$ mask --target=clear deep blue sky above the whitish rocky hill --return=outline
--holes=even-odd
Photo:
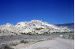
[[[0,24],[42,20],[51,24],[73,22],[73,0],[0,0]]]

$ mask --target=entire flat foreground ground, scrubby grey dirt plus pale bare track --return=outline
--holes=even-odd
[[[0,49],[5,49],[5,45],[12,49],[74,49],[74,40],[59,34],[1,36]]]

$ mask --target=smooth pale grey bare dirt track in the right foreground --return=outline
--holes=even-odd
[[[54,40],[38,42],[27,48],[21,49],[74,49],[74,48],[73,48],[73,40],[55,38]]]

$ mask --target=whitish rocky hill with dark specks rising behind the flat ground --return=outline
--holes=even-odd
[[[68,27],[56,26],[40,20],[18,22],[16,25],[7,23],[0,25],[0,35],[16,34],[51,34],[53,32],[70,32]]]

